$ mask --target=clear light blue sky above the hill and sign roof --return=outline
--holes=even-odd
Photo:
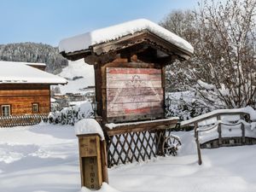
[[[0,0],[0,44],[36,42],[57,46],[91,30],[145,18],[159,22],[173,9],[198,0]]]

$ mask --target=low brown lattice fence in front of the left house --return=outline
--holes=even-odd
[[[0,117],[0,127],[36,125],[47,119],[48,113]]]

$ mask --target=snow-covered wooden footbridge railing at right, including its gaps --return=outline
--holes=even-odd
[[[218,148],[255,144],[256,137],[246,134],[250,128],[250,114],[236,109],[216,110],[194,119],[181,122],[181,127],[194,125],[198,163],[201,165],[200,148]],[[247,127],[246,127],[247,126]]]

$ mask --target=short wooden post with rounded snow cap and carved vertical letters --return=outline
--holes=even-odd
[[[108,183],[106,142],[102,127],[95,119],[82,119],[75,125],[79,137],[79,162],[81,186],[101,189]]]

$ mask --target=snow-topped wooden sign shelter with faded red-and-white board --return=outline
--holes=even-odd
[[[94,66],[96,112],[110,143],[115,135],[119,141],[121,134],[134,131],[145,137],[143,131],[177,124],[178,118],[166,119],[165,115],[166,65],[188,60],[193,54],[193,47],[183,38],[149,20],[132,20],[63,39],[59,49],[69,60],[84,58]],[[123,140],[129,143],[126,135]]]

